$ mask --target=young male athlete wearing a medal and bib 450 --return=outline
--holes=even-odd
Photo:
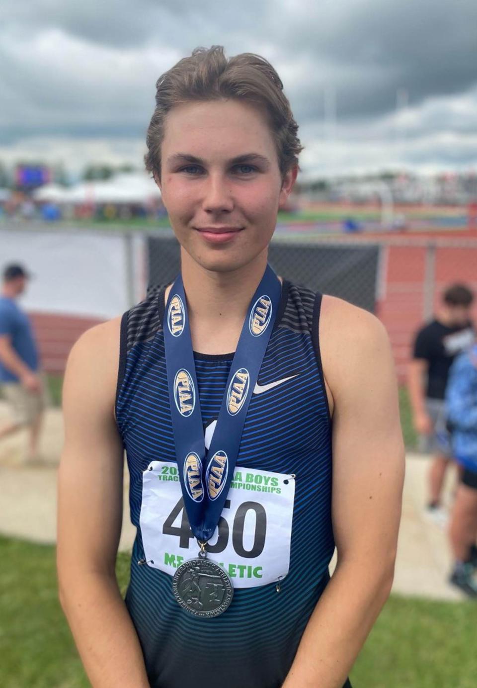
[[[159,78],[156,102],[146,166],[181,280],[71,352],[63,609],[95,687],[341,688],[395,565],[388,338],[368,312],[267,268],[301,149],[273,67],[198,49]],[[123,447],[138,529],[125,603]]]

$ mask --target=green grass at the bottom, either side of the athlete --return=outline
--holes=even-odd
[[[56,594],[54,547],[0,536],[0,685],[86,688]],[[122,593],[129,557],[118,557]],[[393,595],[351,680],[354,688],[473,688],[477,676],[472,603]]]

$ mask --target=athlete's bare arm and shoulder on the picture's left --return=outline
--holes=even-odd
[[[115,579],[123,447],[113,407],[119,319],[93,327],[69,355],[58,473],[60,601],[93,688],[146,688],[137,634]]]

